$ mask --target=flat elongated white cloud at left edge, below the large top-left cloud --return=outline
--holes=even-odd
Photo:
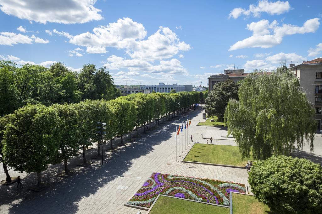
[[[13,46],[16,44],[48,43],[47,39],[41,39],[32,35],[31,37],[13,32],[0,32],[0,45]]]

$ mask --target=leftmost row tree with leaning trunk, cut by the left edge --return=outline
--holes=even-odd
[[[4,141],[4,134],[5,134],[5,128],[8,123],[13,122],[13,114],[5,115],[3,117],[0,117],[0,163],[2,162],[3,170],[6,175],[6,182],[11,182],[11,177],[8,172],[8,167],[6,164],[6,161],[4,159],[4,147],[5,147],[5,141]]]

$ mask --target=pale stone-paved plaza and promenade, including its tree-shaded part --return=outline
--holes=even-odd
[[[204,121],[203,112],[198,109],[189,113],[192,121],[190,133],[194,142],[206,143],[206,140],[202,139],[203,134],[203,137],[216,139],[213,141],[215,144],[236,145],[232,138],[223,137],[227,135],[225,128],[196,126],[199,121]],[[95,160],[90,167],[77,167],[76,165],[82,161],[82,155],[79,155],[68,163],[70,169],[76,170],[76,173],[68,178],[56,176],[57,172],[64,169],[63,164],[50,166],[42,173],[42,178],[52,182],[52,185],[39,193],[28,190],[29,186],[36,184],[35,173],[20,174],[10,171],[11,176],[21,175],[23,188],[17,190],[16,184],[0,186],[0,213],[137,213],[138,209],[125,207],[124,204],[153,172],[249,185],[245,169],[181,163],[193,145],[189,142],[190,139],[183,151],[182,145],[180,152],[177,147],[176,161],[175,130],[186,118],[180,117],[179,120],[160,124],[155,131],[141,134],[137,141],[113,154],[105,152],[104,166],[101,166],[100,160]],[[142,131],[143,129],[140,130]],[[135,132],[132,136],[134,134]],[[177,141],[179,143],[179,140]],[[316,136],[314,153],[310,153],[305,147],[303,152],[296,152],[296,155],[306,156],[321,163],[321,142],[322,137]],[[119,139],[115,143],[119,143]],[[109,146],[109,142],[105,144],[105,147]],[[96,152],[97,149],[87,151],[87,160]],[[3,179],[5,174],[2,169],[0,180]],[[146,211],[142,210],[142,213]]]

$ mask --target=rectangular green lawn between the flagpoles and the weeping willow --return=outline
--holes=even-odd
[[[195,143],[184,160],[244,167],[248,159],[242,159],[237,146]]]

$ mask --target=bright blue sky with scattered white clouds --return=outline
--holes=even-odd
[[[105,65],[115,83],[206,85],[322,56],[322,1],[0,0],[0,59]]]

